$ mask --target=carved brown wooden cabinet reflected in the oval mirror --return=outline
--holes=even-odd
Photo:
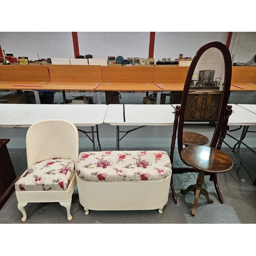
[[[185,121],[216,121],[221,98],[222,91],[189,91]]]

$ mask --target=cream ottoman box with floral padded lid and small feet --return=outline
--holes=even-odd
[[[89,210],[152,210],[168,201],[172,168],[162,151],[81,152],[76,164],[79,201]]]

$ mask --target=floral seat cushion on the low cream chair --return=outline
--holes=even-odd
[[[16,191],[67,190],[75,174],[75,162],[49,158],[31,165],[15,183]]]

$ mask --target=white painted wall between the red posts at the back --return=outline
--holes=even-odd
[[[193,57],[206,42],[226,44],[228,32],[156,32],[154,59],[175,58],[182,53]],[[236,61],[250,61],[256,53],[256,32],[233,32],[231,56]],[[78,32],[79,52],[94,58],[123,56],[147,58],[150,32]],[[14,56],[74,58],[71,32],[0,32],[0,46]]]

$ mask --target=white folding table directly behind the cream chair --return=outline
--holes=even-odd
[[[95,151],[94,126],[96,126],[99,150],[101,150],[98,124],[102,124],[105,116],[106,104],[1,104],[0,127],[29,127],[46,119],[64,119],[74,123],[77,127],[91,126],[91,132],[85,132],[93,143]],[[92,138],[88,136],[92,133]]]

